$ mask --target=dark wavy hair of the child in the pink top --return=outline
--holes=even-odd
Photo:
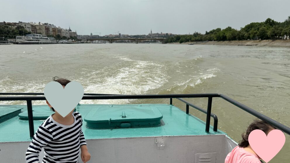
[[[249,145],[248,137],[249,137],[250,133],[256,129],[262,130],[265,132],[265,134],[267,134],[267,132],[269,130],[274,130],[276,128],[271,126],[270,124],[266,123],[263,120],[258,120],[258,119],[254,120],[254,122],[252,122],[248,126],[246,133],[242,133],[241,136],[243,139],[241,141],[239,141],[239,147],[247,147]]]

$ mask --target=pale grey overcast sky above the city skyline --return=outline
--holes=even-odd
[[[79,35],[205,33],[282,22],[290,0],[0,0],[0,22],[48,22]]]

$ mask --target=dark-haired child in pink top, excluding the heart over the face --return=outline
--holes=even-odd
[[[235,147],[232,152],[229,152],[225,159],[225,163],[261,163],[260,157],[253,151],[251,145],[248,142],[248,137],[253,130],[262,130],[266,135],[274,129],[275,127],[267,124],[262,120],[254,120],[252,122],[246,133],[242,134],[243,140],[239,141],[239,146]]]

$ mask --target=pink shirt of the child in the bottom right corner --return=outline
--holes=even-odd
[[[259,157],[253,153],[247,152],[244,148],[235,147],[229,152],[225,163],[261,163]]]

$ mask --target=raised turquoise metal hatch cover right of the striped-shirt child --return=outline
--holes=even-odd
[[[85,116],[87,128],[110,129],[158,126],[163,115],[155,106],[111,105],[92,108]]]

